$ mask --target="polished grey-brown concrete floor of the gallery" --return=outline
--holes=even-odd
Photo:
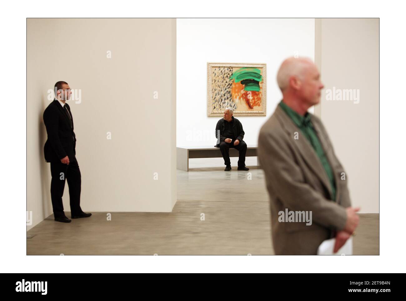
[[[190,159],[177,170],[178,198],[171,213],[92,212],[64,224],[53,215],[27,232],[27,255],[271,255],[268,194],[256,157],[252,179],[224,171],[222,158]],[[203,167],[202,167],[203,166]],[[204,213],[205,220],[201,220]],[[70,217],[70,213],[66,213]],[[379,215],[361,214],[354,254],[379,254]]]

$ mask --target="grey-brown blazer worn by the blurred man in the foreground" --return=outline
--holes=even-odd
[[[348,176],[326,129],[313,114],[311,122],[335,175],[336,202],[331,200],[330,183],[320,159],[279,105],[259,132],[257,155],[270,197],[272,243],[277,255],[317,254],[322,241],[333,237],[333,230],[343,230],[347,219],[345,208],[351,206]],[[312,225],[280,222],[278,213],[285,209],[312,211]]]

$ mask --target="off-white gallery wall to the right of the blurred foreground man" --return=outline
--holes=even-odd
[[[379,19],[323,18],[316,24],[321,118],[347,172],[353,206],[378,213]],[[336,97],[328,97],[330,92]]]

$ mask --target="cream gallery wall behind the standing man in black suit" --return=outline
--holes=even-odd
[[[51,102],[48,89],[59,80],[81,90],[81,103],[68,103],[82,209],[171,211],[176,202],[176,19],[27,20],[28,230],[52,214],[42,115]],[[70,211],[67,183],[63,206]]]

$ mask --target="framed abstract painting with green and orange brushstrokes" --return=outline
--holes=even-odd
[[[266,64],[207,63],[207,116],[266,116]]]

